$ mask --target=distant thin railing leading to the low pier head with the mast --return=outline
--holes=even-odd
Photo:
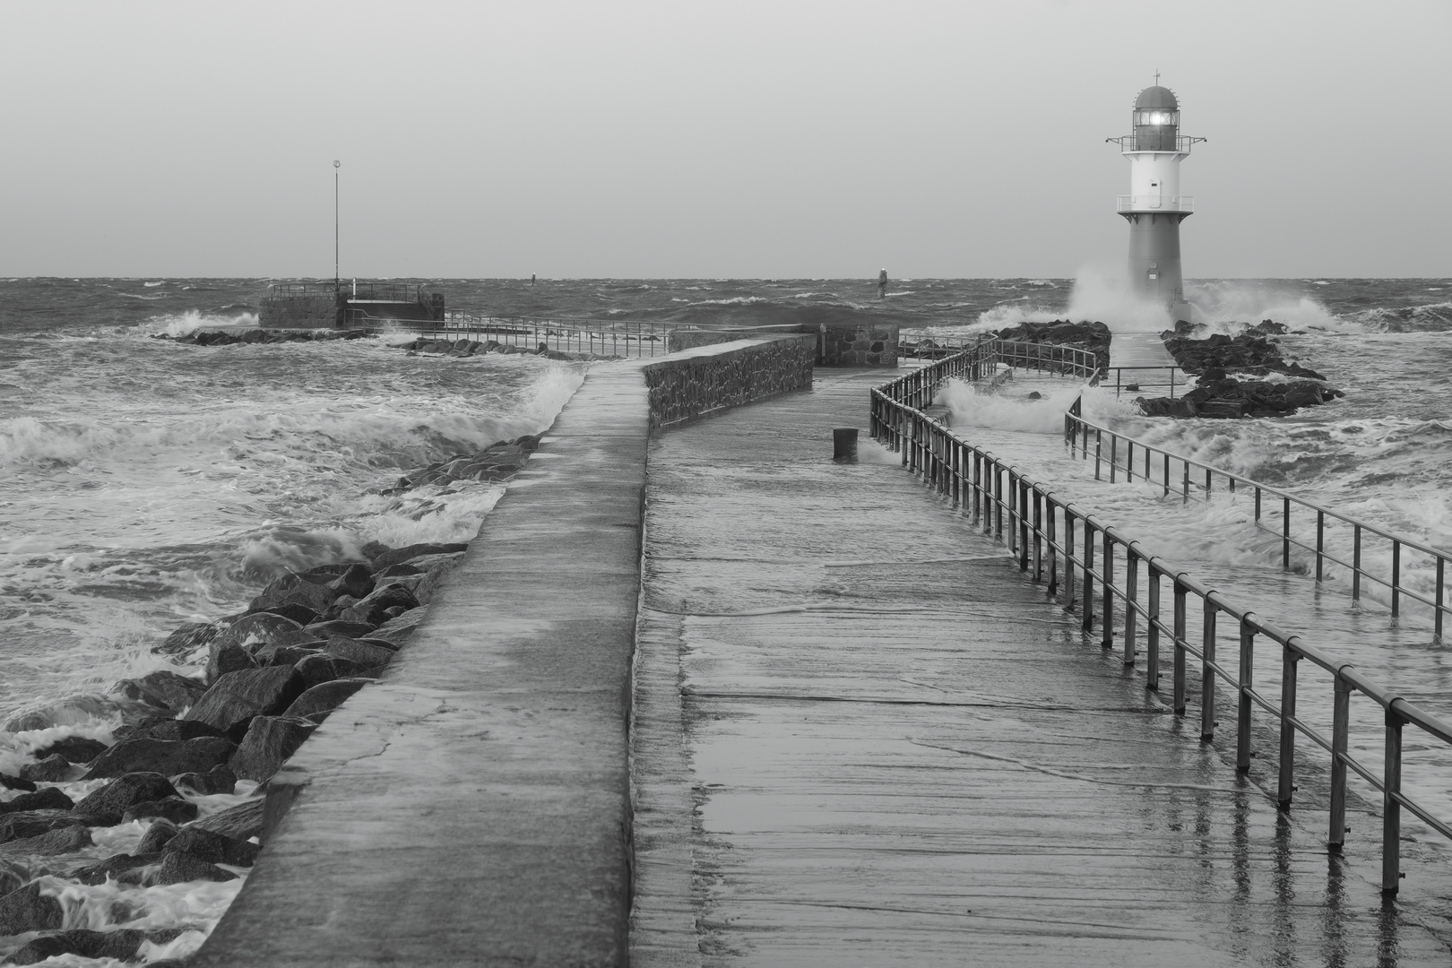
[[[379,321],[380,322],[380,321]],[[430,340],[457,343],[489,340],[501,345],[537,350],[540,345],[559,353],[601,357],[653,357],[669,353],[669,332],[693,327],[677,322],[640,322],[629,319],[540,319],[533,316],[486,316],[450,309],[441,322],[421,327],[372,325],[372,332],[409,332]]]

